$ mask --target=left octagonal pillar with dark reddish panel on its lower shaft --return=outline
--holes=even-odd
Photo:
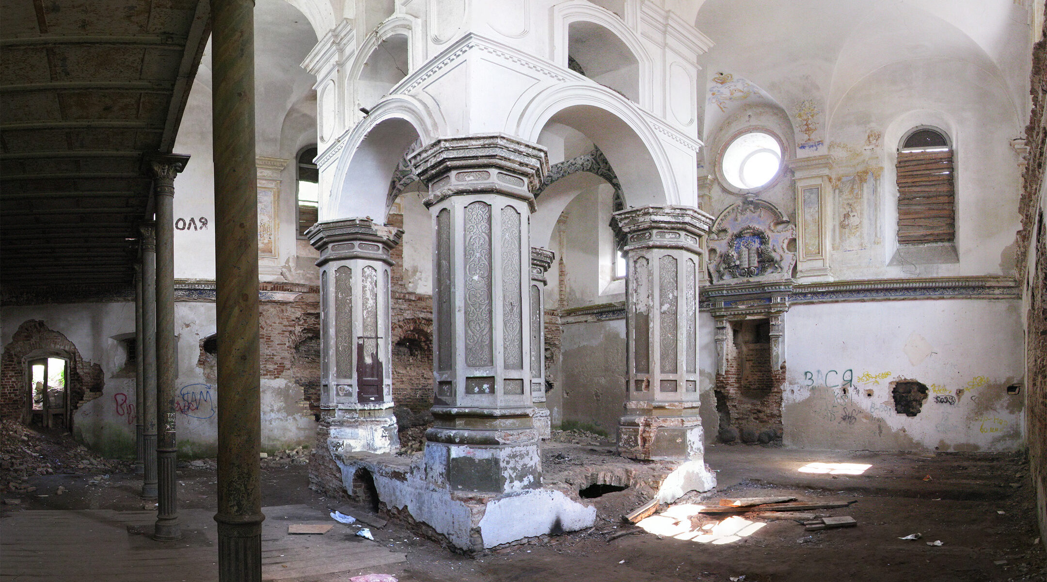
[[[306,231],[320,251],[320,412],[332,452],[395,452],[389,252],[403,231],[370,219]]]

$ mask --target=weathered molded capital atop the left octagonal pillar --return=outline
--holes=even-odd
[[[308,230],[306,237],[320,259],[321,267],[330,261],[365,259],[393,265],[391,251],[400,244],[403,230],[384,225],[376,225],[366,218],[332,220],[318,222]]]

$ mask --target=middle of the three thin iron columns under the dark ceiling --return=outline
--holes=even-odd
[[[156,228],[141,231],[141,445],[146,476],[141,496],[156,498]]]

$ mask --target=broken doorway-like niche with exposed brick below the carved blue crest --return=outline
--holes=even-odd
[[[784,370],[771,365],[771,320],[730,321],[726,335],[727,366],[716,375],[715,388],[721,440],[770,443],[780,439]]]

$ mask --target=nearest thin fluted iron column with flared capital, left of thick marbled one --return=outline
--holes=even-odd
[[[159,508],[153,538],[181,539],[178,525],[178,441],[175,430],[175,176],[188,156],[166,154],[150,159],[156,191],[156,440]]]

